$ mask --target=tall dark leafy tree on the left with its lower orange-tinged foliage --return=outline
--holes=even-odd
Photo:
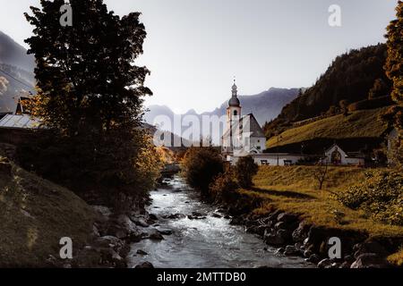
[[[152,93],[144,87],[150,71],[133,64],[146,37],[140,13],[120,18],[103,0],[70,0],[73,26],[62,27],[64,0],[40,4],[25,13],[37,62],[30,112],[53,132],[38,146],[37,162],[48,168],[38,168],[73,190],[105,190],[109,198],[150,189],[159,160],[141,130],[142,97]]]

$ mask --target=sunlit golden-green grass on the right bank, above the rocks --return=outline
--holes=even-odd
[[[403,237],[403,227],[374,222],[361,211],[342,206],[334,193],[364,180],[364,169],[330,167],[322,190],[313,178],[311,166],[261,166],[252,189],[241,192],[261,198],[262,206],[255,214],[268,214],[273,209],[300,214],[307,222],[345,230],[365,231],[372,237]]]

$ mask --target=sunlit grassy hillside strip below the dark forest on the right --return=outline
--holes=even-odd
[[[347,116],[339,114],[292,128],[280,134],[279,144],[277,136],[270,138],[267,147],[285,146],[312,139],[378,138],[388,128],[388,124],[380,118],[388,108],[361,110]]]

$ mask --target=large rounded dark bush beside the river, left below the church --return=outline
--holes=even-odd
[[[219,151],[212,147],[191,147],[182,160],[182,175],[187,184],[209,195],[210,183],[224,172],[224,163]]]

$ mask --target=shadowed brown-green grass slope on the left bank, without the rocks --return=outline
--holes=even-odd
[[[95,215],[70,190],[13,165],[12,176],[0,173],[0,267],[47,266],[62,237],[74,252],[90,240]]]

